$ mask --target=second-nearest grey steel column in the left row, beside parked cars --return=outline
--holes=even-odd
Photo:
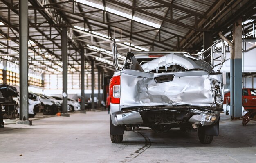
[[[67,114],[67,27],[62,28],[61,33],[61,55],[62,55],[62,116]]]

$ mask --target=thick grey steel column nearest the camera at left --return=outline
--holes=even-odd
[[[17,124],[28,124],[28,1],[19,0],[19,46],[20,46],[20,120]]]

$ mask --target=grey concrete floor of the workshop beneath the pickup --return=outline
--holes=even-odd
[[[22,155],[22,156],[20,156]],[[33,126],[9,124],[0,128],[0,163],[170,163],[256,162],[256,121],[221,115],[220,136],[202,145],[196,132],[172,129],[154,133],[148,128],[125,132],[113,144],[107,112],[49,117]]]

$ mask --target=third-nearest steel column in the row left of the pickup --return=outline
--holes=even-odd
[[[85,112],[85,94],[84,94],[84,72],[85,72],[85,50],[81,49],[81,111]],[[86,112],[85,112],[86,113]]]

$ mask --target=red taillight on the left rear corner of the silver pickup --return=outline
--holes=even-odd
[[[109,96],[112,104],[120,104],[120,79],[121,76],[113,76],[109,83]]]

